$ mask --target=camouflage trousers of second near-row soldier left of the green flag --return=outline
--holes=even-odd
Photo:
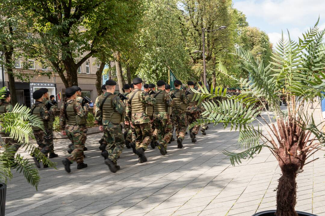
[[[150,123],[134,124],[133,127],[136,136],[136,149],[143,148],[147,150],[152,137]]]

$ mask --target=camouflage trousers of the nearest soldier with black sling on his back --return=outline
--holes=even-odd
[[[108,152],[108,158],[116,164],[117,158],[121,155],[125,143],[122,126],[121,124],[113,124],[111,122],[103,126],[104,136],[107,142],[106,151]]]

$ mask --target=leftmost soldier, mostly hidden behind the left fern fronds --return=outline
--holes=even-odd
[[[12,105],[10,104],[11,97],[10,97],[9,90],[6,90],[6,92],[4,93],[4,95],[2,95],[2,97],[3,97],[3,99],[1,99],[1,104],[0,104],[0,115],[7,113],[7,112],[11,112],[13,109]],[[15,154],[18,151],[20,144],[17,142],[17,140],[9,138],[10,134],[6,133],[5,129],[2,129],[0,133],[1,133],[3,141],[6,143],[6,148],[9,148],[9,147],[13,148],[13,151]],[[7,138],[4,138],[4,137],[7,137]]]

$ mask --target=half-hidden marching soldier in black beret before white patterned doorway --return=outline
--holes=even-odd
[[[48,119],[47,124],[44,125],[45,128],[45,142],[47,143],[47,146],[50,147],[50,153],[48,158],[54,158],[58,157],[58,154],[54,153],[54,145],[53,145],[53,122],[55,119],[55,112],[58,110],[58,108],[55,105],[49,106],[48,99],[48,89],[47,88],[40,88],[40,91],[43,92],[43,101],[42,103],[45,104],[45,107],[48,111]],[[52,103],[53,100],[50,102]],[[46,165],[45,165],[46,166]]]

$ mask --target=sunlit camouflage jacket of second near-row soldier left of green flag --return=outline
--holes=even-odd
[[[143,124],[143,123],[149,123],[150,118],[145,112],[139,112],[139,113],[132,113],[132,108],[130,104],[130,99],[133,96],[134,92],[137,90],[134,89],[130,94],[128,94],[128,100],[126,101],[126,116],[131,119],[132,124]],[[147,92],[140,90],[140,100],[142,105],[144,106],[154,106],[156,104],[156,99],[153,97],[150,97]]]

